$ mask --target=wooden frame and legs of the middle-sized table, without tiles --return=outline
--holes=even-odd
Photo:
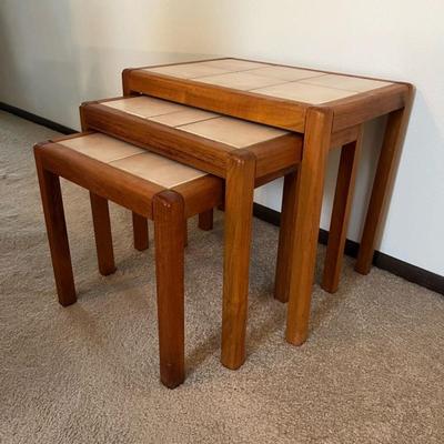
[[[128,92],[128,90],[125,90]],[[278,176],[285,175],[284,198],[291,193],[293,199],[284,199],[283,223],[280,234],[280,253],[276,265],[275,297],[287,301],[291,271],[291,239],[294,226],[296,190],[295,168],[301,163],[302,138],[287,133],[272,141],[258,143],[245,149],[234,149],[223,143],[182,133],[149,121],[105,107],[102,102],[88,102],[80,108],[82,125],[85,130],[97,130],[112,137],[148,148],[162,155],[180,160],[183,163],[211,172],[225,179],[225,253],[222,320],[223,365],[238,369],[245,359],[245,327],[249,287],[249,264],[251,244],[251,221],[253,190]],[[360,125],[333,134],[332,145],[355,147]],[[329,147],[330,148],[330,147]],[[354,151],[352,149],[352,151]],[[345,164],[343,169],[352,168]],[[350,174],[352,178],[353,174]],[[345,186],[345,185],[344,185]],[[346,188],[346,186],[345,186]],[[350,183],[350,189],[353,184]],[[351,201],[352,193],[345,199]],[[349,204],[350,205],[350,204]],[[336,205],[337,206],[337,205]],[[346,230],[346,220],[339,224],[337,238]],[[325,282],[337,280],[342,262],[341,243],[329,246],[330,261],[334,266],[325,271]],[[330,276],[336,273],[336,278]]]

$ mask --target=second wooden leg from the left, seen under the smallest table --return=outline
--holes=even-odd
[[[115,271],[108,200],[90,192],[90,201],[99,272],[103,276],[108,276]]]

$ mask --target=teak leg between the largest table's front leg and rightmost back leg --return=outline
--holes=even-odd
[[[334,194],[329,244],[326,248],[324,275],[322,280],[322,287],[330,293],[337,291],[340,282],[350,212],[353,203],[361,140],[362,128],[359,139],[347,143],[341,150],[341,161],[337,171],[336,191]]]

